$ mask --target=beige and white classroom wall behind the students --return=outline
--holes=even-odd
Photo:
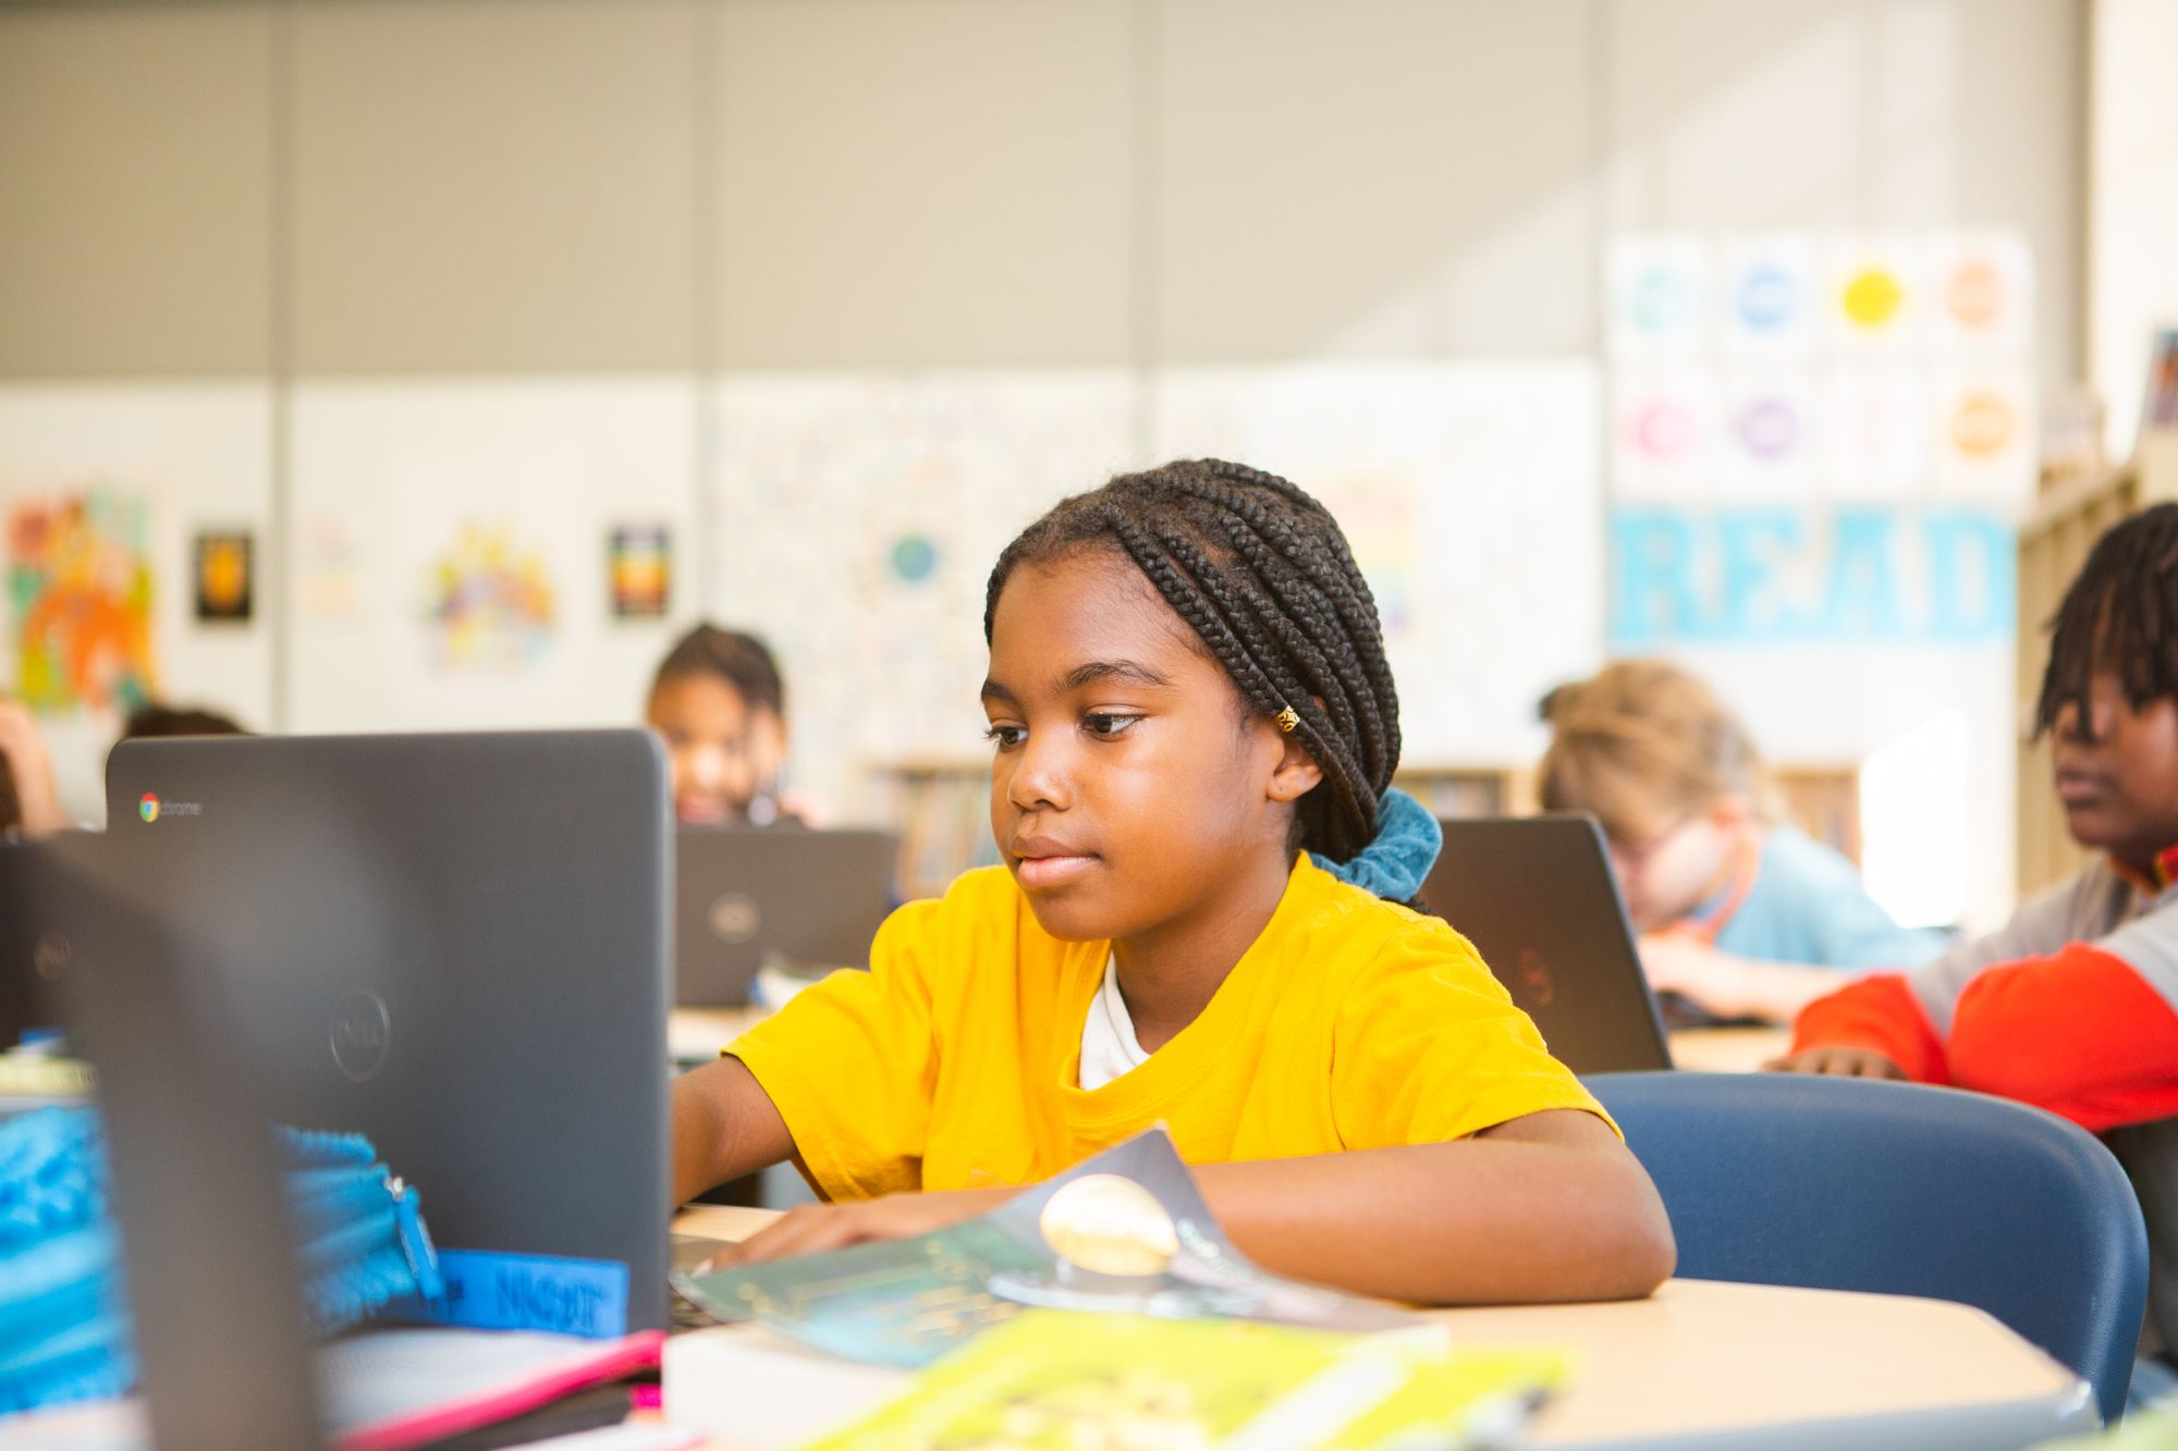
[[[7,7],[0,492],[157,475],[107,440],[207,390],[150,547],[183,582],[203,527],[255,529],[264,608],[166,590],[174,693],[311,730],[625,719],[719,610],[788,645],[804,773],[854,810],[862,763],[974,752],[1013,523],[1202,438],[1374,458],[1420,410],[1464,431],[1379,473],[1442,497],[1342,481],[1342,512],[1414,597],[1416,749],[1509,763],[1605,654],[1612,240],[2006,229],[2034,373],[2069,379],[2082,65],[2073,0]],[[74,451],[54,418],[89,420]],[[603,608],[621,523],[671,529],[662,619]],[[427,634],[420,582],[470,545],[560,584],[549,632]],[[1779,756],[1971,717],[1960,911],[2002,911],[2002,643],[1681,654]],[[81,797],[96,726],[61,730]]]

